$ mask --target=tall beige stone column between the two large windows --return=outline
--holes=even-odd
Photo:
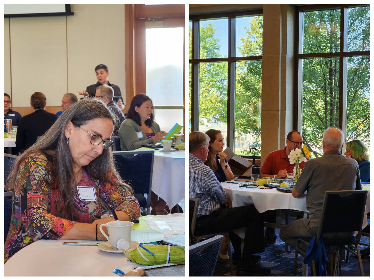
[[[261,164],[292,130],[294,15],[291,4],[263,5]]]

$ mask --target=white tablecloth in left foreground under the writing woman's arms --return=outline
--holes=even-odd
[[[39,240],[31,243],[4,264],[4,276],[118,277],[112,272],[113,268],[127,273],[136,266],[124,254],[103,252],[98,246],[62,245],[66,241],[81,240]]]

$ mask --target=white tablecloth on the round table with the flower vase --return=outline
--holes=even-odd
[[[224,182],[221,184],[230,198],[233,207],[254,204],[260,213],[276,209],[292,209],[308,212],[306,209],[306,196],[294,198],[290,193],[277,191],[276,188],[271,190],[261,190],[260,187],[239,189],[238,184]]]

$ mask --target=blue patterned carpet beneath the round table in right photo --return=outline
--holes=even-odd
[[[294,269],[294,254],[295,251],[291,249],[289,252],[285,251],[285,243],[279,239],[279,230],[276,230],[277,241],[275,244],[267,245],[265,252],[261,255],[260,265],[271,269],[269,276],[292,276]],[[368,237],[362,237],[364,243],[370,244]],[[361,247],[361,246],[360,246]],[[365,247],[362,247],[364,249]],[[233,251],[233,249],[232,249]],[[301,276],[302,258],[298,256],[297,276]],[[370,276],[370,258],[362,259],[365,276]],[[309,265],[310,270],[311,265]],[[235,270],[235,268],[234,268]],[[224,261],[218,258],[215,266],[213,276],[231,276],[229,261]],[[234,271],[236,276],[236,271]],[[352,254],[349,255],[349,262],[342,261],[341,276],[360,276],[358,259]]]

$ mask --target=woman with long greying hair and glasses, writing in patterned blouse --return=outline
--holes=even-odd
[[[106,240],[98,226],[114,218],[101,218],[101,203],[119,220],[139,217],[139,203],[109,149],[117,121],[104,102],[83,99],[18,157],[7,180],[15,194],[4,262],[40,239]],[[93,189],[90,199],[81,198],[82,189]]]

